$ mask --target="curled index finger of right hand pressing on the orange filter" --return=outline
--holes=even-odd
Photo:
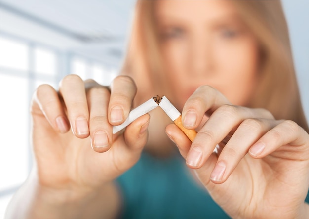
[[[182,111],[182,124],[187,129],[195,129],[205,112],[211,114],[224,104],[230,102],[219,91],[210,86],[201,86],[186,101]]]

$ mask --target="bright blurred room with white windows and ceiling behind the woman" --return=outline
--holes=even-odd
[[[122,64],[135,0],[0,0],[0,219],[32,167],[29,103],[67,74],[109,85]],[[309,1],[283,0],[309,118]]]

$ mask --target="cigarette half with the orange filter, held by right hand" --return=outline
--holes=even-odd
[[[186,129],[181,123],[181,114],[176,109],[176,107],[165,97],[163,96],[159,102],[159,106],[164,110],[168,117],[187,135],[191,140],[194,140],[197,132],[193,129]]]

